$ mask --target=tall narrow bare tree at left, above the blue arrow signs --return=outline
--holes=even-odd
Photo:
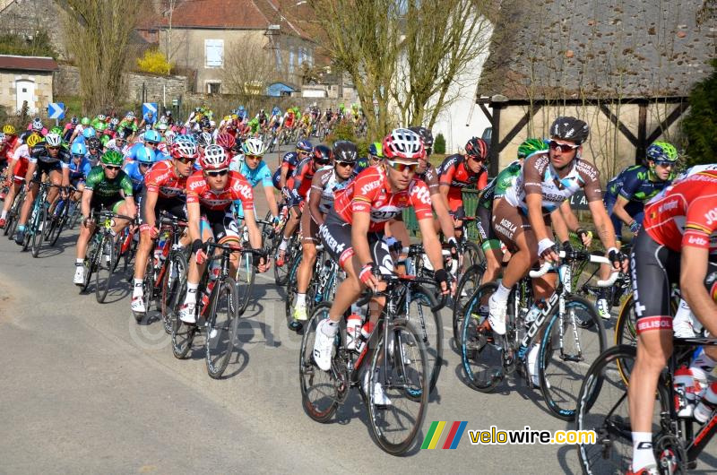
[[[85,112],[112,108],[123,98],[128,44],[143,13],[142,0],[56,0],[65,11],[65,44],[80,68]],[[122,12],[122,14],[117,14]]]

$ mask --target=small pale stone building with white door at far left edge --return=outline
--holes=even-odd
[[[30,114],[47,108],[56,70],[51,57],[0,55],[0,107],[13,114],[25,102]]]

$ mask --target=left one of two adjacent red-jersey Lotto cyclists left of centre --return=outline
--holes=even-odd
[[[144,175],[144,188],[140,196],[140,244],[134,260],[134,287],[130,307],[134,318],[142,320],[144,308],[144,269],[150,257],[153,241],[160,236],[157,215],[163,210],[179,219],[186,219],[186,178],[192,174],[194,161],[199,157],[196,143],[186,135],[178,136],[172,143],[172,160],[155,163]],[[188,236],[181,241],[189,244]]]

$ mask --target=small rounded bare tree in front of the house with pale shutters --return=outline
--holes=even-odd
[[[263,94],[266,82],[276,75],[275,59],[263,38],[237,41],[225,50],[222,86],[229,94],[241,99]]]

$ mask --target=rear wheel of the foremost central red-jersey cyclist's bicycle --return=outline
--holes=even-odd
[[[319,322],[329,317],[331,304],[322,302],[315,307],[311,318],[304,326],[301,352],[298,360],[298,375],[301,385],[301,406],[307,416],[317,422],[328,422],[339,406],[339,382],[335,365],[329,371],[322,371],[314,362],[314,341]],[[341,333],[341,332],[340,332]],[[334,357],[336,358],[336,357]],[[341,391],[348,391],[348,382],[341,382]]]

